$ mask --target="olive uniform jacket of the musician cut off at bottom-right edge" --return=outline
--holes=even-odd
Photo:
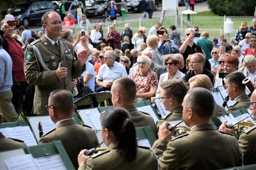
[[[244,131],[238,143],[244,154],[244,165],[256,164],[256,126]]]

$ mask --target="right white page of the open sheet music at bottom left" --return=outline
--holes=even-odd
[[[67,167],[65,166],[60,154],[49,155],[46,157],[38,157],[35,158],[40,167],[44,170],[52,169],[52,170],[65,170]]]

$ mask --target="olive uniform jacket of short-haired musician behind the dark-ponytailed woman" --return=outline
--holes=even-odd
[[[157,137],[157,127],[154,119],[147,113],[141,113],[135,106],[124,106],[125,110],[129,112],[132,122],[135,127],[143,127],[150,125],[155,136]]]

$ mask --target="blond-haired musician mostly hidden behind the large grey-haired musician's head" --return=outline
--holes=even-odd
[[[194,87],[203,87],[204,89],[207,89],[210,92],[212,92],[211,80],[205,74],[195,75],[195,76],[191,77],[188,80],[188,82],[189,82],[190,89],[192,89]],[[214,111],[212,114],[212,121],[214,122],[216,127],[220,127],[220,125],[221,125],[221,121],[218,119],[218,117],[220,117],[221,115],[226,114],[226,113],[227,113],[227,111],[222,106],[220,106],[219,104],[214,102]]]

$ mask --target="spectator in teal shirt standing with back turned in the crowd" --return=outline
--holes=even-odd
[[[205,53],[205,57],[207,60],[211,59],[211,51],[212,51],[212,41],[209,39],[209,32],[203,31],[202,32],[202,38],[197,39],[196,44],[199,45]]]

